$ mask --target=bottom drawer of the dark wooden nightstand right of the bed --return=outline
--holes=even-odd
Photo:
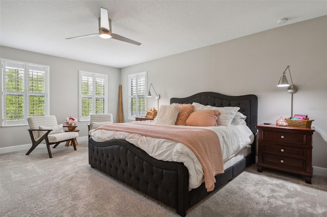
[[[302,171],[306,170],[306,160],[298,160],[288,157],[263,154],[262,162],[264,164],[275,165],[283,168],[291,168],[291,169],[302,170]]]

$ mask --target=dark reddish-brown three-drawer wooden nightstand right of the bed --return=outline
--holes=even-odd
[[[258,125],[258,172],[270,168],[312,178],[312,134],[310,127]]]

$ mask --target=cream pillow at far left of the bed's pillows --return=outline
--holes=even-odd
[[[174,125],[178,115],[178,104],[161,105],[154,124]]]

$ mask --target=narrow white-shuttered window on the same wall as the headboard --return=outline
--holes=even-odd
[[[128,75],[128,119],[146,115],[147,72]]]

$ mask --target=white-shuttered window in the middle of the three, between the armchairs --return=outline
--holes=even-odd
[[[79,71],[79,120],[107,113],[107,75]]]

